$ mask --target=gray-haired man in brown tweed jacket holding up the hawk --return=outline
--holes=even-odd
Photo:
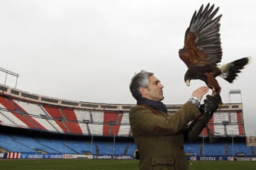
[[[161,102],[163,87],[153,73],[143,70],[130,83],[130,92],[137,100],[129,119],[139,150],[139,169],[188,169],[184,140],[197,139],[205,127],[207,120],[203,116],[208,115],[203,115],[198,107],[208,87],[196,89],[189,101],[172,115],[168,115]],[[203,109],[213,113],[221,102],[220,95],[207,95],[204,102]]]

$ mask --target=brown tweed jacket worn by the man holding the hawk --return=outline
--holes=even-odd
[[[130,110],[132,136],[139,150],[139,169],[188,169],[184,152],[184,137],[197,139],[205,126],[202,119],[188,126],[191,119],[202,113],[191,102],[168,115],[144,105]]]

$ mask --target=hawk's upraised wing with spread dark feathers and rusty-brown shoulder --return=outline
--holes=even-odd
[[[220,18],[222,15],[214,18],[219,10],[214,5],[210,7],[207,4],[205,9],[203,5],[195,10],[190,21],[189,28],[185,34],[184,48],[179,51],[179,57],[186,63],[187,67],[191,65],[216,65],[221,62],[222,49],[220,41]]]

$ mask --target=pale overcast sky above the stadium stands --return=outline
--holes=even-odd
[[[254,1],[0,1],[0,67],[19,74],[17,89],[61,99],[130,103],[132,76],[152,71],[166,104],[182,104],[202,81],[184,83],[178,51],[195,10],[220,6],[223,60],[256,55]],[[224,103],[241,102],[247,135],[256,135],[255,66],[233,84],[221,78]],[[15,78],[0,72],[0,83]],[[229,95],[241,89],[242,95]],[[209,92],[210,94],[210,92]],[[241,98],[242,96],[242,98]]]

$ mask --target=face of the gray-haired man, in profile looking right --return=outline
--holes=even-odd
[[[163,84],[155,76],[150,76],[148,78],[149,86],[148,88],[142,87],[142,97],[150,100],[161,101],[164,99],[163,96]]]

